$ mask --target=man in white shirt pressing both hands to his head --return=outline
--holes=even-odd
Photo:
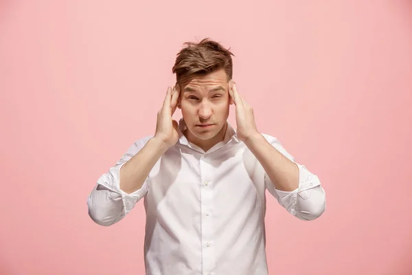
[[[275,137],[256,129],[232,80],[233,54],[209,39],[185,45],[155,135],[137,140],[98,179],[89,215],[112,225],[144,198],[149,275],[268,274],[265,190],[303,220],[323,213],[325,192]],[[236,131],[227,122],[231,104]]]

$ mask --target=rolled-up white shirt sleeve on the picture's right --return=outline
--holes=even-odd
[[[288,157],[299,168],[299,186],[295,190],[290,192],[277,190],[265,173],[264,182],[267,190],[277,199],[281,206],[295,217],[304,221],[320,217],[325,211],[326,197],[319,177],[311,173],[306,166],[295,162],[294,157],[285,150],[275,137],[270,135],[264,135],[264,137],[277,151]]]

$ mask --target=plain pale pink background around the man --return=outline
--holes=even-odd
[[[104,228],[87,196],[207,36],[327,192],[312,222],[267,196],[270,274],[412,274],[412,1],[3,0],[1,275],[144,274],[143,203]]]

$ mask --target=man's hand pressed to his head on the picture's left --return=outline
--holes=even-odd
[[[170,148],[176,144],[179,139],[179,134],[177,131],[178,123],[176,120],[172,119],[172,115],[174,111],[176,111],[179,95],[179,84],[176,84],[173,89],[168,87],[168,91],[166,92],[166,97],[163,102],[163,107],[157,113],[156,133],[154,137],[163,142],[166,148]]]

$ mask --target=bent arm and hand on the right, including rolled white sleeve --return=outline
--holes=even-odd
[[[239,95],[233,80],[229,81],[229,94],[236,106],[237,135],[262,164],[266,188],[299,219],[319,217],[326,206],[319,178],[297,164],[275,137],[259,133],[253,108]]]

